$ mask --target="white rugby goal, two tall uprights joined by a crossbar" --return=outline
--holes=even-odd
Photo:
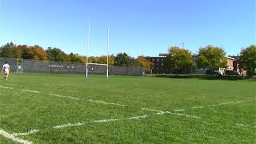
[[[110,30],[107,28],[107,46],[106,46],[106,64],[102,63],[90,63],[89,62],[89,48],[90,48],[90,20],[88,22],[88,35],[87,35],[87,50],[86,50],[86,74],[85,78],[88,78],[89,70],[92,71],[94,74],[102,74],[104,70],[106,70],[106,79],[109,78],[109,45],[110,45]],[[104,69],[104,66],[106,68]],[[90,68],[90,69],[89,69]],[[103,69],[103,71],[102,71]]]

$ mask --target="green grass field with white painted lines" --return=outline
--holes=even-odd
[[[256,81],[11,74],[0,143],[255,143]]]

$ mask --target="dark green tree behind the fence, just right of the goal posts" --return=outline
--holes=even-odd
[[[115,66],[131,66],[131,58],[126,53],[118,53],[114,58]]]

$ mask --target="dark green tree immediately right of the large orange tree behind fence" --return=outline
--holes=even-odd
[[[50,61],[57,61],[57,62],[69,62],[68,54],[65,54],[64,51],[58,48],[51,48],[48,47],[46,50]]]

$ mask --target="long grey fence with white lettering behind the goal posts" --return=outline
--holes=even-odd
[[[34,61],[30,59],[0,58],[0,64],[8,62],[13,72],[25,73],[55,73],[55,74],[84,74],[85,64],[52,61]],[[106,74],[106,66],[88,65],[89,74]],[[110,75],[142,76],[145,69],[130,66],[109,66]]]

